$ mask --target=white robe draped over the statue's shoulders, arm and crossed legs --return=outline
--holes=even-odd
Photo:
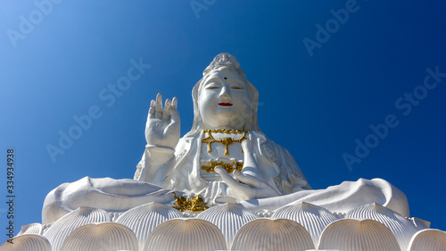
[[[250,153],[258,163],[258,178],[267,182],[281,195],[241,202],[254,212],[274,211],[278,207],[307,202],[323,206],[334,213],[347,213],[360,205],[378,203],[397,213],[409,216],[404,193],[381,179],[345,181],[326,189],[312,190],[293,156],[261,132],[250,132],[255,142]],[[175,149],[148,147],[136,171],[136,180],[111,178],[81,180],[54,188],[45,198],[42,222],[55,222],[79,206],[125,212],[137,205],[157,202],[172,205],[173,190],[187,194],[202,194],[213,204],[218,197],[231,197],[233,191],[223,181],[207,181],[200,176],[202,133],[186,135]],[[157,156],[155,160],[151,156]],[[157,168],[151,169],[153,165]],[[153,172],[154,171],[154,172]]]

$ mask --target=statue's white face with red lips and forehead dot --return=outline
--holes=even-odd
[[[202,84],[198,108],[205,129],[243,130],[252,119],[252,95],[236,71],[214,71]]]

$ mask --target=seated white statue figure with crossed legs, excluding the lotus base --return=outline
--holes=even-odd
[[[198,195],[209,205],[242,203],[275,210],[301,201],[344,213],[376,202],[409,216],[405,195],[385,180],[346,181],[312,190],[293,156],[268,139],[257,122],[258,91],[235,57],[219,54],[193,89],[194,124],[180,138],[178,101],[159,94],[149,109],[147,146],[134,180],[88,177],[55,188],[45,198],[43,222],[79,206],[121,212],[136,205],[171,205],[171,191]]]

